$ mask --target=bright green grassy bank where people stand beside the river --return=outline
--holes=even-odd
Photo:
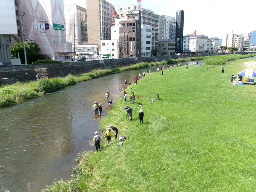
[[[222,67],[176,67],[127,87],[135,103],[117,100],[100,124],[117,127],[124,144],[112,140],[101,152],[80,154],[77,174],[45,191],[255,191],[255,85],[230,83],[245,66]]]

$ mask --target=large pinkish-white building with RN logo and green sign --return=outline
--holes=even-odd
[[[40,47],[40,58],[70,61],[72,43],[66,42],[63,0],[19,0],[25,38]]]

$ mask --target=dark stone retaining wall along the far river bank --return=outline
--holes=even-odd
[[[255,52],[253,52],[255,53]],[[227,53],[219,53],[227,54]],[[239,53],[240,54],[240,53]],[[245,53],[247,54],[247,53]],[[125,59],[108,59],[108,60],[87,60],[81,62],[63,62],[50,64],[27,64],[13,65],[0,67],[0,79],[11,78],[20,82],[28,80],[36,80],[36,74],[40,77],[65,77],[66,75],[78,75],[87,73],[95,69],[113,69],[116,67],[129,66],[131,64],[141,62],[160,62],[163,60],[207,56],[209,54],[185,54],[185,55],[170,55],[170,56],[155,56],[155,57],[135,57]],[[214,55],[214,54],[210,54]]]

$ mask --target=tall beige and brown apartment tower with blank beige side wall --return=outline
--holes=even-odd
[[[86,0],[88,44],[111,39],[112,5],[105,0]]]

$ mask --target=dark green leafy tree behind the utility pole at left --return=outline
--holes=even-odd
[[[36,53],[40,51],[38,44],[27,41],[25,42],[27,62],[33,62],[36,60]],[[20,55],[20,60],[22,63],[25,62],[24,49],[22,41],[18,41],[13,46],[11,46],[12,58],[18,58],[18,53]]]

